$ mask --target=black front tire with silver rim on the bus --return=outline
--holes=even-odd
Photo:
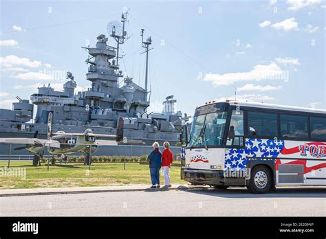
[[[265,166],[254,167],[250,174],[249,185],[247,185],[249,192],[265,194],[270,191],[271,187],[272,175],[270,174],[270,170]]]

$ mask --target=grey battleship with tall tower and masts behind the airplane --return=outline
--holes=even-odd
[[[0,109],[0,137],[33,137],[38,131],[40,138],[47,135],[47,115],[53,114],[53,131],[82,133],[91,128],[96,134],[116,133],[118,117],[124,120],[122,144],[151,145],[153,141],[170,141],[171,145],[179,141],[180,126],[188,117],[181,111],[175,112],[176,100],[173,95],[162,103],[162,112],[149,112],[150,91],[148,89],[149,51],[151,37],[144,39],[141,30],[142,47],[146,55],[144,87],[135,84],[133,78],[122,74],[119,68],[119,47],[129,38],[124,23],[127,12],[121,21],[112,21],[107,25],[109,37],[116,46],[107,45],[105,34],[97,36],[95,47],[82,47],[88,51],[85,62],[88,65],[86,78],[91,87],[85,91],[76,91],[77,81],[73,73],[67,72],[67,82],[63,91],[56,91],[50,84],[38,88],[30,100],[17,97],[12,109]],[[118,80],[123,79],[123,85]],[[34,106],[36,114],[34,117]]]

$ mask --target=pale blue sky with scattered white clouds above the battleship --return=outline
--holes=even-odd
[[[175,95],[177,110],[192,115],[235,89],[238,100],[326,108],[325,1],[0,2],[1,108],[43,84],[59,90],[66,71],[79,89],[89,87],[80,47],[94,46],[123,8],[131,38],[120,69],[142,86],[140,29],[152,36],[152,109]]]

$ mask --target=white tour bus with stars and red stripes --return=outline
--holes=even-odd
[[[254,102],[207,102],[180,135],[181,177],[219,189],[326,185],[326,111]],[[189,140],[188,140],[189,139]]]

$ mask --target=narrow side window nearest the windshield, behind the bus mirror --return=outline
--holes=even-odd
[[[235,138],[228,139],[226,145],[243,146],[243,111],[232,110],[229,130],[235,131]]]

